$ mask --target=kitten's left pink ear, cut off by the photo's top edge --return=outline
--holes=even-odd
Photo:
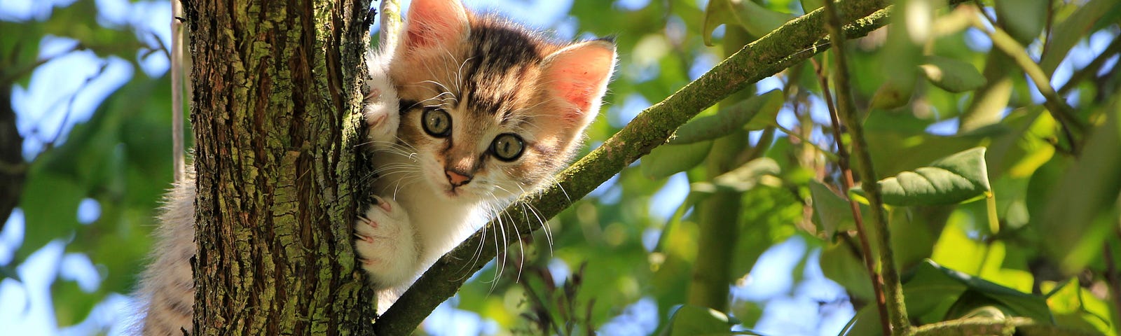
[[[446,47],[469,32],[467,12],[460,0],[413,0],[405,21],[405,52]]]

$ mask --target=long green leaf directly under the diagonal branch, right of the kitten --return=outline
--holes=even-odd
[[[713,140],[740,129],[761,130],[775,123],[775,118],[781,108],[782,92],[771,90],[722,109],[716,114],[691,120],[674,132],[669,144]]]

